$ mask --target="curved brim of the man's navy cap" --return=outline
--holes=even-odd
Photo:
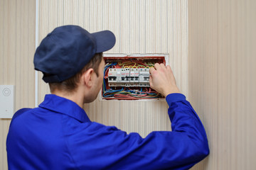
[[[112,47],[114,47],[114,44],[116,42],[114,33],[112,33],[110,30],[102,30],[97,33],[92,33],[91,35],[96,40],[96,44],[97,44],[96,53],[110,50]]]

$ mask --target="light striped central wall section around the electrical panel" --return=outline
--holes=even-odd
[[[53,28],[74,24],[89,32],[112,30],[116,45],[110,53],[169,53],[181,91],[187,94],[188,23],[186,0],[47,0],[39,3],[39,40]],[[39,74],[38,101],[49,93]],[[165,101],[100,101],[86,104],[90,119],[146,136],[171,130]]]

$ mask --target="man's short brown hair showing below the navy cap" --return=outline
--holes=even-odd
[[[67,91],[69,93],[73,93],[77,87],[78,83],[80,81],[80,77],[84,72],[87,71],[87,69],[92,68],[95,73],[97,74],[97,77],[99,76],[99,65],[100,62],[102,61],[102,52],[101,53],[96,53],[94,57],[88,62],[85,67],[83,67],[80,72],[75,74],[73,77],[70,77],[69,79],[66,79],[62,82],[58,83],[49,83],[50,86],[50,91],[53,92],[55,89],[59,89],[60,91]]]

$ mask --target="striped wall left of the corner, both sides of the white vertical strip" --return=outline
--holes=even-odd
[[[38,0],[36,11],[34,0],[0,0],[0,84],[15,85],[15,111],[41,103],[49,89],[41,80],[41,73],[36,73],[39,78],[35,84],[35,44],[53,28],[74,24],[90,32],[112,30],[117,43],[110,53],[168,53],[177,84],[184,94],[188,94],[187,8],[186,0]],[[167,108],[165,101],[118,102],[100,101],[99,98],[85,105],[91,120],[116,125],[127,132],[139,132],[142,136],[152,130],[171,130]],[[9,119],[0,120],[0,169],[7,169],[9,123]]]

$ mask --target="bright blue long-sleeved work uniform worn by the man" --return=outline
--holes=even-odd
[[[9,169],[189,169],[208,153],[201,120],[183,94],[169,94],[172,132],[138,133],[92,122],[76,103],[48,94],[11,120]]]

